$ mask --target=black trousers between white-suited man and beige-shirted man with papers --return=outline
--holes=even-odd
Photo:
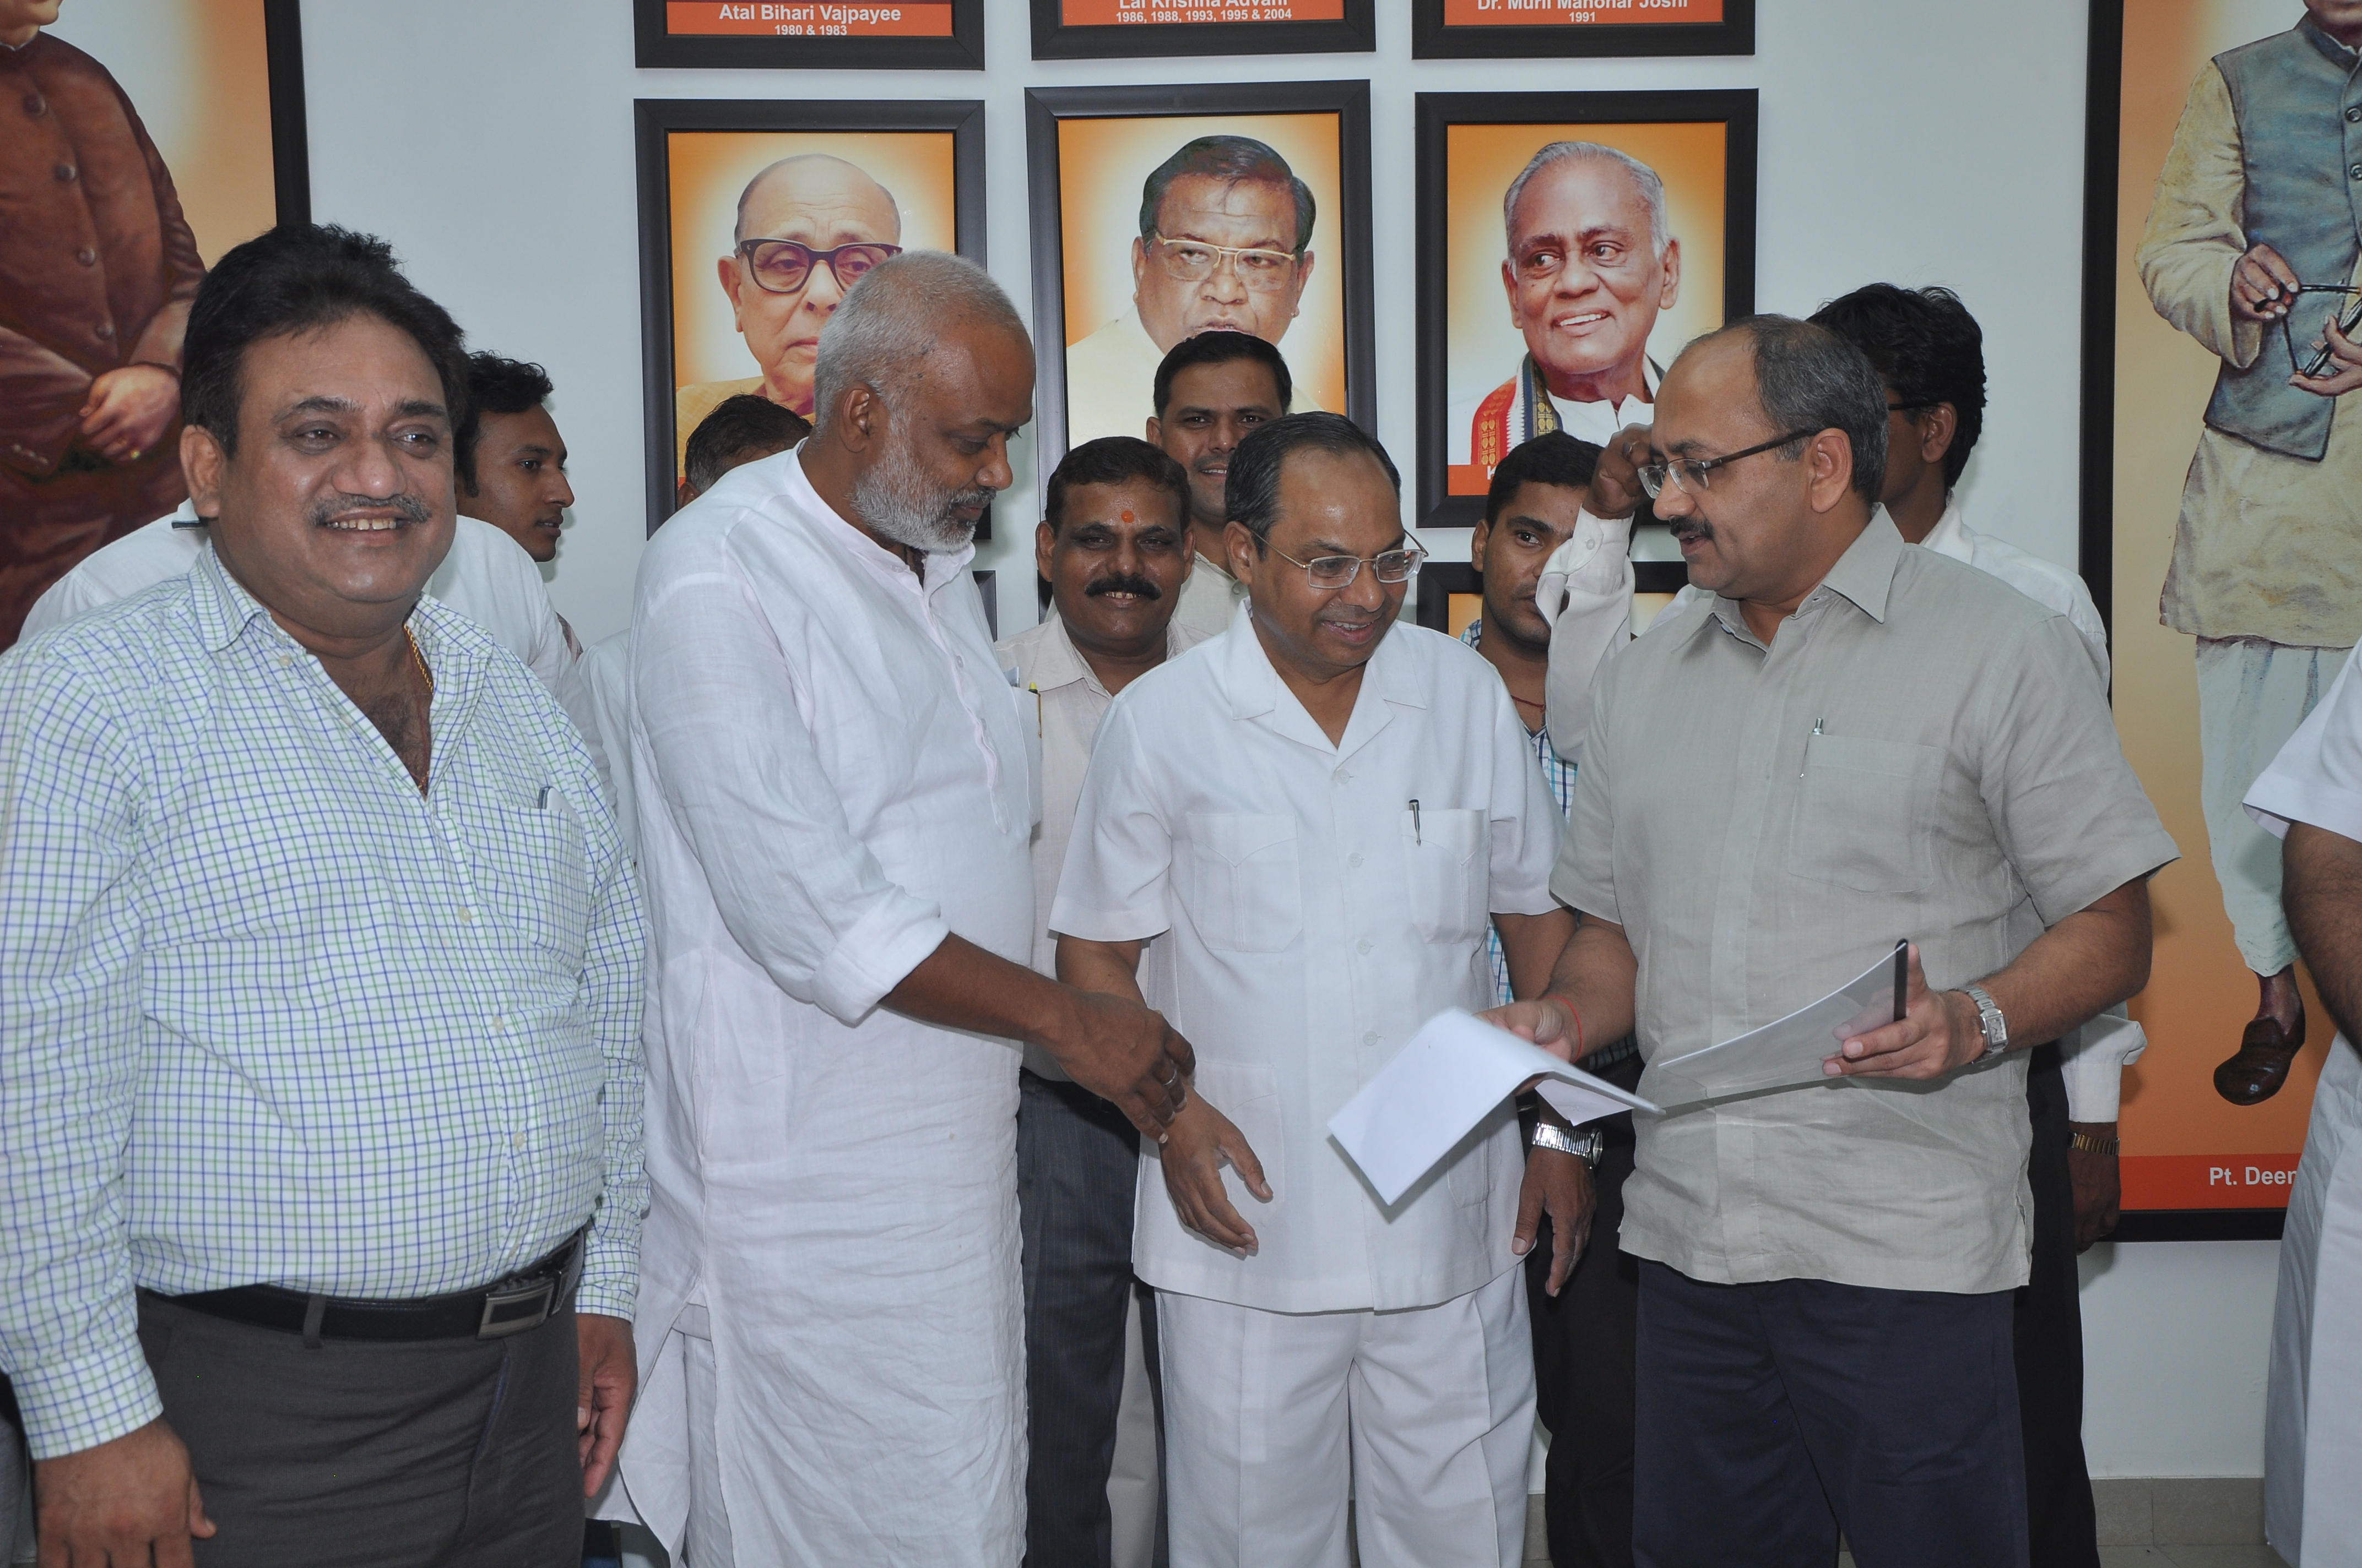
[[[1599,1070],[1620,1089],[1639,1084],[1627,1056]],[[1599,1207],[1592,1242],[1575,1273],[1549,1282],[1549,1216],[1526,1259],[1526,1306],[1533,1318],[1535,1410],[1549,1429],[1549,1561],[1557,1568],[1632,1568],[1632,1329],[1639,1318],[1639,1259],[1616,1247],[1623,1183],[1632,1174],[1632,1117],[1599,1122],[1606,1152],[1592,1171]]]

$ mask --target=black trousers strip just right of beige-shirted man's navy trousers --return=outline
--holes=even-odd
[[[2067,1176],[2067,1084],[2057,1046],[2027,1072],[2034,1152],[2034,1273],[2015,1292],[2017,1410],[2027,1445],[2027,1530],[2034,1568],[2100,1568],[2100,1525],[2083,1464],[2083,1304],[2074,1268],[2074,1181]]]

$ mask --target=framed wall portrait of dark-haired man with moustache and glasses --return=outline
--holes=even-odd
[[[1035,87],[1025,94],[1042,482],[1143,435],[1164,354],[1278,345],[1294,411],[1375,425],[1370,85]]]

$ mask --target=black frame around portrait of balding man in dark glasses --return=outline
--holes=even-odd
[[[647,409],[647,531],[673,515],[673,234],[666,137],[694,130],[952,135],[952,234],[959,255],[985,260],[983,99],[633,99],[640,177],[640,394]],[[992,538],[992,512],[976,529]]]

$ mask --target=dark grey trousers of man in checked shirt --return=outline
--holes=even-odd
[[[508,1339],[357,1344],[139,1294],[163,1419],[205,1514],[198,1568],[576,1568],[574,1308]]]

